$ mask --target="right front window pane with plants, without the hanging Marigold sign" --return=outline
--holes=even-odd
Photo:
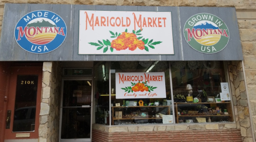
[[[224,62],[171,62],[171,77],[176,123],[233,122],[231,101],[220,97]]]

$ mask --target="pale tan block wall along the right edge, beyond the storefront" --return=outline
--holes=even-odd
[[[250,115],[254,138],[256,137],[256,8],[238,9],[238,23],[244,55],[244,69],[247,84]],[[241,129],[242,130],[242,129]],[[248,129],[247,129],[248,130]],[[255,140],[255,139],[254,139]]]

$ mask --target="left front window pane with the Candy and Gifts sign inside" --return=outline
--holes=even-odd
[[[112,125],[173,123],[168,62],[111,62],[110,85]]]

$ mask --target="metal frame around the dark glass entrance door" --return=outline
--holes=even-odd
[[[90,138],[76,138],[76,139],[62,139],[61,133],[62,133],[62,111],[63,111],[63,89],[64,89],[64,81],[65,80],[90,80],[91,83],[91,124],[90,124]],[[61,105],[60,105],[60,129],[58,132],[58,141],[59,142],[71,142],[71,141],[77,141],[77,142],[90,142],[92,140],[92,119],[93,119],[93,76],[90,77],[63,77],[62,78],[62,90],[61,90]]]

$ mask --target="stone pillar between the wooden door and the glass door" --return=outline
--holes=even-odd
[[[59,62],[44,62],[42,87],[39,142],[58,141],[61,102]]]

